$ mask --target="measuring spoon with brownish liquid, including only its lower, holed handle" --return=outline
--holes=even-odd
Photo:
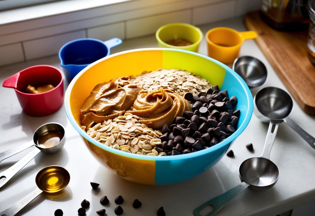
[[[35,135],[36,134],[36,135]],[[28,162],[30,162],[39,152],[52,154],[59,151],[65,144],[65,128],[55,122],[42,125],[34,134],[35,148],[24,156],[13,166],[0,173],[0,179],[5,180],[0,184],[0,188],[5,185],[17,172],[19,172]],[[35,139],[36,137],[36,139]]]

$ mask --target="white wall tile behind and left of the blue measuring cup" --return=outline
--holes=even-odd
[[[45,37],[23,42],[26,60],[56,54],[65,43],[85,37],[85,31],[75,31],[53,37]]]

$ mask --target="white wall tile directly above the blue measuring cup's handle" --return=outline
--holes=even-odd
[[[124,22],[115,23],[112,25],[99,26],[95,28],[89,28],[87,30],[87,37],[96,38],[102,41],[106,41],[113,37],[118,37],[122,40],[125,39],[125,27]]]

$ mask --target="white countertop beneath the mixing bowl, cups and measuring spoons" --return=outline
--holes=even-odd
[[[246,31],[243,19],[200,26],[205,34],[216,26],[226,26],[238,31]],[[157,47],[155,36],[148,36],[124,41],[111,50],[117,53],[135,48]],[[206,40],[203,38],[199,53],[207,55]],[[269,79],[266,86],[284,87],[283,83],[262,54],[254,40],[245,41],[240,56],[251,55],[260,59],[267,67]],[[0,82],[16,72],[32,65],[53,65],[61,69],[57,55],[23,62],[0,68]],[[228,65],[232,67],[231,65]],[[67,83],[66,83],[67,84]],[[258,89],[252,89],[253,95]],[[64,215],[77,215],[80,203],[90,202],[86,215],[98,215],[97,210],[106,209],[105,215],[114,213],[115,197],[124,198],[123,215],[157,215],[157,209],[164,207],[166,215],[193,215],[193,210],[240,183],[238,166],[245,159],[260,156],[266,139],[268,124],[262,123],[253,114],[245,131],[235,140],[230,149],[234,157],[224,156],[214,167],[194,179],[175,185],[150,186],[127,181],[101,166],[89,153],[82,138],[66,117],[64,107],[46,117],[30,117],[22,112],[14,89],[1,87],[0,91],[0,152],[22,145],[32,140],[37,127],[47,122],[59,122],[66,128],[66,144],[59,152],[48,155],[39,153],[3,188],[0,189],[0,211],[19,201],[36,188],[37,172],[50,165],[66,168],[71,176],[69,185],[57,196],[41,194],[17,215],[54,215],[58,208]],[[306,114],[294,102],[294,111],[290,118],[306,132],[315,136],[315,116]],[[245,147],[252,143],[254,152]],[[12,156],[0,163],[0,172],[12,166],[32,148]],[[265,191],[246,189],[232,202],[228,203],[215,215],[270,215],[275,216],[306,203],[315,201],[315,150],[285,123],[279,125],[278,134],[271,150],[270,159],[280,171],[276,185]],[[1,182],[1,180],[0,180]],[[93,190],[90,182],[99,183]],[[107,196],[108,205],[101,205],[100,198]],[[132,207],[134,199],[139,199],[142,206]]]

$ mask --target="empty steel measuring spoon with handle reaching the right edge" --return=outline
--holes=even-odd
[[[279,124],[287,123],[297,132],[313,149],[315,149],[315,138],[308,134],[299,125],[289,119],[293,111],[293,101],[290,95],[277,87],[266,87],[260,89],[254,97],[254,113],[262,122],[272,121]]]

